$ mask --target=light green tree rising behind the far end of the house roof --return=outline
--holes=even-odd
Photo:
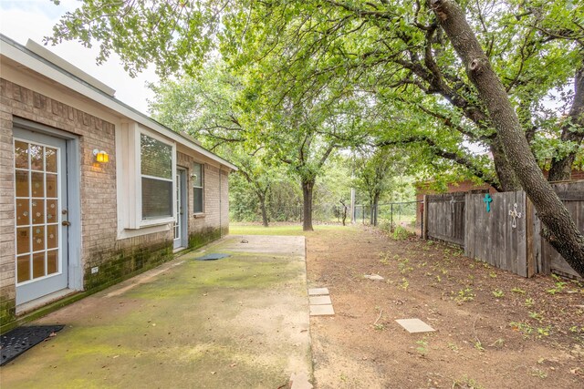
[[[241,80],[214,60],[205,64],[200,77],[184,76],[150,87],[156,93],[150,101],[152,116],[175,131],[202,139],[205,147],[235,163],[244,178],[235,180],[235,186],[255,194],[267,227],[267,195],[277,168],[269,165],[266,149],[252,138],[254,123],[245,120],[237,105],[244,90]],[[248,199],[241,200],[249,204]]]

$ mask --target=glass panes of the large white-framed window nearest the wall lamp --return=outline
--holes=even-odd
[[[142,220],[172,217],[172,146],[141,134]]]

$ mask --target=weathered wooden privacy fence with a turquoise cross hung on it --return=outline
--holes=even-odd
[[[584,231],[584,181],[553,187]],[[541,221],[524,191],[429,195],[424,210],[424,237],[464,247],[467,257],[524,277],[556,272],[579,278],[539,235]]]

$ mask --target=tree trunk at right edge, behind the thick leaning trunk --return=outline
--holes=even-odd
[[[576,71],[574,76],[574,101],[570,107],[566,124],[562,128],[562,141],[572,141],[577,144],[584,139],[584,64]],[[568,153],[567,156],[552,159],[549,169],[549,181],[561,181],[569,179],[572,173],[572,164],[576,159],[578,148]]]

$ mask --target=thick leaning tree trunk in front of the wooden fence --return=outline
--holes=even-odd
[[[584,237],[537,166],[505,87],[491,68],[463,10],[454,0],[428,1],[463,60],[466,74],[493,120],[507,160],[545,226],[542,236],[584,277]]]

